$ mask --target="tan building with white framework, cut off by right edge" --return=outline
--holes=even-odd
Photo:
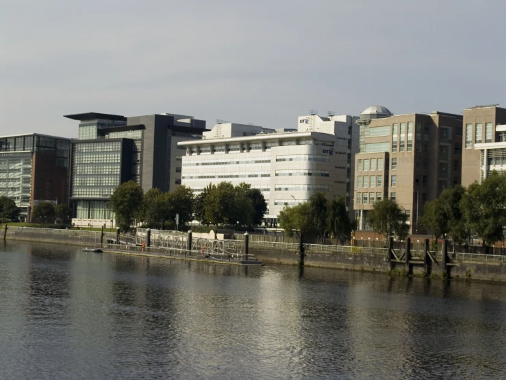
[[[476,106],[463,117],[462,185],[481,183],[492,170],[506,174],[506,108]]]

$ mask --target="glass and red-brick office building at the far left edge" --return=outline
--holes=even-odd
[[[38,202],[66,203],[71,139],[31,133],[0,137],[0,196],[12,198],[21,219]]]

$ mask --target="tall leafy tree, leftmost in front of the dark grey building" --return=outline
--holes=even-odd
[[[110,198],[111,209],[123,232],[129,230],[134,215],[142,206],[143,196],[142,188],[134,181],[123,182],[114,189]]]

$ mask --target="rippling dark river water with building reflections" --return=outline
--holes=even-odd
[[[505,317],[506,285],[0,242],[1,379],[501,379]]]

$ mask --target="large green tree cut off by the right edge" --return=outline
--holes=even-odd
[[[492,246],[505,238],[506,226],[506,176],[492,174],[479,185],[468,187],[461,200],[461,210],[472,233],[483,241],[484,246]]]

